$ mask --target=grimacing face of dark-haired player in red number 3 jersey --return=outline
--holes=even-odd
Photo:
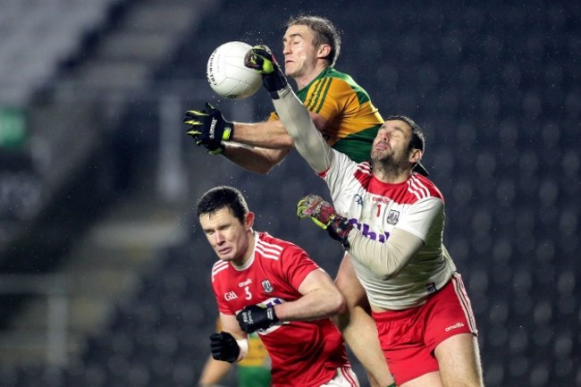
[[[200,215],[199,223],[218,258],[241,265],[248,257],[253,219],[248,213],[245,222],[240,223],[230,208],[223,207],[213,214]]]

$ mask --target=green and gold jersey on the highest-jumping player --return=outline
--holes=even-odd
[[[300,89],[297,97],[309,111],[327,120],[322,133],[331,147],[358,163],[369,159],[371,144],[383,118],[366,90],[355,80],[328,67]],[[270,119],[279,117],[272,113]]]

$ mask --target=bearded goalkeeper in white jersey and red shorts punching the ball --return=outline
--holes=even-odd
[[[297,214],[349,252],[395,382],[482,386],[476,321],[442,242],[442,193],[413,172],[424,154],[423,131],[406,116],[388,117],[371,161],[356,163],[327,145],[268,47],[251,49],[246,65],[263,74],[295,147],[330,189],[334,207],[309,195]]]

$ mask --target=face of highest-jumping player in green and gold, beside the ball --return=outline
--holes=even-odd
[[[288,77],[299,78],[316,67],[317,48],[313,46],[314,34],[303,25],[290,26],[282,38],[284,72]]]

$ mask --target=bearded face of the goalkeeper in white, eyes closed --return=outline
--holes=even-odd
[[[390,164],[405,167],[409,163],[411,132],[411,127],[405,121],[383,122],[371,147],[371,159],[374,162],[390,161]]]

